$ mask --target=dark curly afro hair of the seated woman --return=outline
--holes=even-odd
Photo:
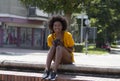
[[[56,21],[61,22],[62,27],[63,27],[63,28],[62,28],[62,31],[65,31],[65,30],[67,29],[67,20],[66,20],[64,17],[62,17],[62,16],[60,16],[60,15],[53,16],[53,17],[49,20],[49,24],[48,24],[49,29],[51,30],[52,33],[54,33],[53,24],[54,24],[54,22],[56,22]]]

